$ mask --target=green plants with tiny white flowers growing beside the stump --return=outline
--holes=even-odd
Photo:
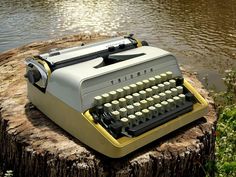
[[[208,172],[212,171],[212,168],[217,177],[236,176],[236,68],[226,70],[223,81],[225,91],[210,90],[219,119],[216,130],[216,160],[204,167],[206,176],[209,176]],[[0,176],[11,177],[13,174],[14,171],[11,169],[3,172],[0,168]]]

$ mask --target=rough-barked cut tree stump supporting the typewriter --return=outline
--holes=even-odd
[[[212,98],[185,70],[186,79],[208,100],[209,113],[121,159],[110,159],[75,139],[27,99],[25,58],[108,36],[74,35],[36,42],[0,54],[0,166],[15,176],[205,176],[214,162],[217,115]],[[208,170],[213,176],[214,171]]]

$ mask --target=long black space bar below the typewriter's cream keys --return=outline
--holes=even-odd
[[[162,115],[155,116],[154,118],[144,123],[141,123],[135,127],[129,128],[127,132],[132,136],[141,135],[142,133],[145,133],[148,130],[151,130],[157,126],[160,126],[192,110],[193,110],[193,103],[186,101],[184,105],[181,105],[180,107],[177,107],[174,110],[168,111]]]

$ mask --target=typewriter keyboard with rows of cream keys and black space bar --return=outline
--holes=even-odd
[[[89,112],[114,138],[134,137],[192,111],[194,102],[183,78],[168,71],[96,96]]]

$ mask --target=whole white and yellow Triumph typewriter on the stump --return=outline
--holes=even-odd
[[[25,77],[33,105],[111,158],[207,113],[176,58],[133,35],[28,58]]]

